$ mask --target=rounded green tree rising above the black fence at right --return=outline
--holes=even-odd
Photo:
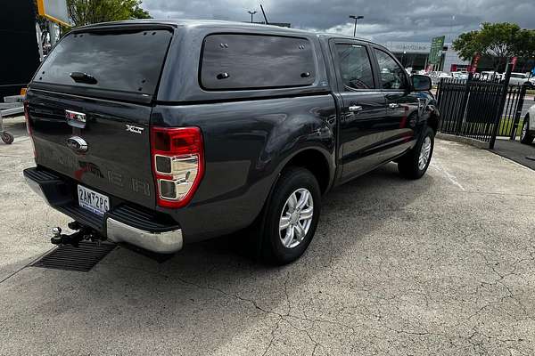
[[[498,69],[508,58],[521,56],[520,41],[530,41],[531,37],[523,34],[518,25],[509,22],[481,23],[476,31],[466,32],[453,41],[453,48],[459,56],[469,61],[475,53],[492,58],[494,69]]]

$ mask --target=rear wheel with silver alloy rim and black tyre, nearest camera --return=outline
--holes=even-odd
[[[316,232],[320,202],[314,174],[301,167],[283,171],[266,210],[260,251],[266,262],[281,265],[303,255]]]

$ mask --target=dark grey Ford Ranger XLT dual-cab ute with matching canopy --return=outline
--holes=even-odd
[[[430,88],[349,36],[197,20],[75,28],[29,84],[37,166],[24,175],[74,219],[55,244],[169,254],[253,226],[261,254],[289,263],[334,186],[392,160],[425,174]]]

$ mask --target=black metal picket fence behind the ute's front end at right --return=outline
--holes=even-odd
[[[443,78],[437,88],[439,131],[489,142],[490,149],[497,136],[514,140],[526,86],[508,85],[510,74],[503,80]]]

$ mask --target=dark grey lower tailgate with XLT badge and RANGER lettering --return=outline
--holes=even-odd
[[[37,165],[154,207],[150,107],[36,90],[27,98]],[[84,114],[84,127],[70,125],[67,110]],[[73,145],[74,137],[86,142],[86,151]]]

